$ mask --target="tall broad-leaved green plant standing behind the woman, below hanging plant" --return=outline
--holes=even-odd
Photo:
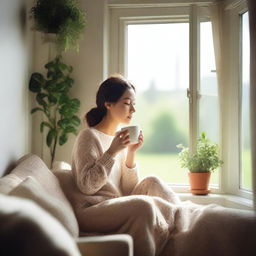
[[[40,131],[48,128],[46,144],[50,148],[51,167],[55,158],[57,142],[63,145],[68,140],[68,134],[77,134],[80,119],[76,113],[80,108],[80,101],[70,98],[69,91],[74,84],[70,77],[73,68],[62,62],[59,55],[45,65],[47,77],[41,73],[33,73],[29,82],[29,90],[36,94],[39,107],[31,113],[42,111],[46,120],[41,122]]]

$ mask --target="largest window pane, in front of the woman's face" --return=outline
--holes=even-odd
[[[128,78],[137,90],[133,122],[145,138],[137,158],[141,176],[187,184],[176,145],[188,145],[189,24],[128,25],[127,56]]]

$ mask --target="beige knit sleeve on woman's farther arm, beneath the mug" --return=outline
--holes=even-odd
[[[130,195],[139,182],[137,164],[134,168],[128,168],[125,164],[126,153],[122,158],[121,187],[124,195]]]

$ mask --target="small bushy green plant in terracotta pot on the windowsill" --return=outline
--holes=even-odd
[[[182,144],[177,145],[181,148],[179,160],[182,168],[189,170],[190,191],[192,194],[206,195],[211,172],[223,164],[219,157],[219,147],[211,142],[205,132],[197,140],[196,151],[192,153],[189,148]]]

